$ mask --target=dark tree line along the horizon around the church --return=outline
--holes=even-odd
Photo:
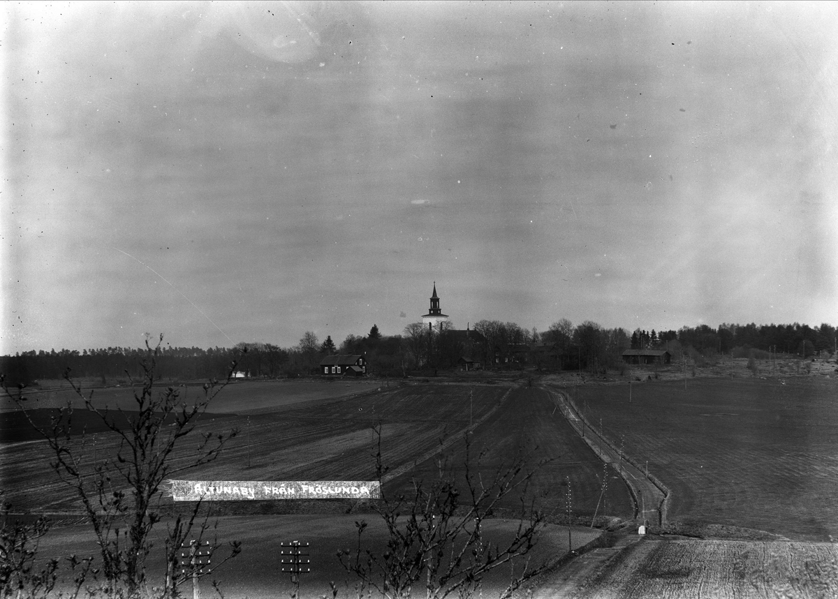
[[[473,331],[473,334],[471,333]],[[158,376],[164,380],[207,380],[225,377],[231,362],[241,374],[257,378],[295,377],[313,374],[324,356],[365,354],[370,372],[403,376],[416,369],[445,369],[461,359],[482,367],[520,368],[527,364],[545,369],[582,369],[591,372],[615,369],[625,349],[669,349],[675,358],[681,352],[694,355],[734,354],[747,357],[751,350],[810,358],[835,352],[836,329],[830,324],[723,323],[706,324],[678,331],[603,328],[592,321],[573,325],[566,318],[539,333],[517,323],[481,320],[468,335],[442,323],[431,332],[422,323],[408,324],[398,335],[382,335],[377,325],[366,335],[349,334],[336,344],[331,336],[322,342],[306,331],[299,343],[281,348],[272,343],[242,342],[232,348],[178,348],[162,345]],[[93,378],[102,385],[127,382],[142,376],[140,363],[145,349],[109,347],[81,351],[28,351],[0,357],[0,372],[10,383],[58,380],[70,369],[76,378]]]

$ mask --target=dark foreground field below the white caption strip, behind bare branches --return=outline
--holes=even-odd
[[[227,516],[219,519],[217,538],[222,545],[230,540],[241,540],[241,555],[222,565],[215,573],[221,589],[228,599],[261,599],[262,597],[290,596],[292,585],[287,575],[279,572],[280,542],[299,540],[309,543],[312,572],[303,575],[300,585],[301,596],[318,597],[328,594],[329,581],[341,589],[340,596],[352,596],[354,579],[349,576],[337,559],[337,551],[354,550],[357,546],[355,520],[365,519],[369,524],[364,533],[362,547],[377,553],[385,549],[386,529],[375,514],[284,515],[284,516]],[[487,538],[493,543],[501,542],[513,534],[516,522],[492,520],[486,524]],[[577,548],[595,539],[599,530],[574,528],[573,547]],[[162,543],[162,539],[158,541]],[[541,564],[556,559],[568,550],[566,527],[547,525],[540,542],[530,555],[531,563]],[[96,545],[87,526],[68,526],[51,531],[41,542],[40,555],[91,555]],[[225,555],[222,547],[218,554]],[[163,571],[162,560],[153,559],[149,571]],[[485,580],[484,592],[488,596],[497,594],[496,589],[509,576],[509,569],[497,571]],[[157,584],[160,581],[155,581]],[[209,581],[201,583],[203,596],[213,596]],[[187,589],[189,590],[189,589]],[[424,596],[424,593],[421,593]]]

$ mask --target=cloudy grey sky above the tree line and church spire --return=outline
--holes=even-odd
[[[838,3],[0,10],[0,354],[838,323]]]

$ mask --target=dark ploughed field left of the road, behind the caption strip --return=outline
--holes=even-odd
[[[343,387],[339,382],[322,385],[340,393],[359,389]],[[446,453],[453,469],[462,472],[463,435],[472,426],[473,452],[486,450],[479,468],[484,477],[510,464],[520,445],[528,446],[534,450],[528,457],[528,467],[551,460],[537,469],[529,489],[531,498],[553,514],[564,514],[569,480],[573,515],[590,516],[596,509],[602,464],[572,432],[546,392],[508,385],[418,384],[378,389],[376,386],[369,393],[333,399],[294,400],[282,395],[272,411],[266,409],[263,396],[254,400],[258,406],[255,411],[251,411],[247,396],[235,397],[241,413],[208,415],[200,428],[217,431],[238,427],[239,436],[218,461],[180,478],[370,480],[375,478],[377,447],[372,427],[380,423],[382,457],[391,468],[383,481],[384,489],[392,493],[410,489],[412,478],[436,476],[441,439],[451,443]],[[213,411],[216,407],[214,400]],[[92,464],[115,449],[115,436],[100,432],[88,436],[85,452]],[[80,509],[70,490],[50,471],[44,442],[3,443],[0,452],[0,478],[16,509],[54,513]],[[173,464],[188,459],[189,453],[184,451]],[[633,506],[623,481],[615,472],[608,476],[598,513],[630,517]],[[345,509],[340,502],[226,502],[220,506],[227,514],[241,514],[242,510],[288,513]],[[505,507],[514,508],[515,503]]]

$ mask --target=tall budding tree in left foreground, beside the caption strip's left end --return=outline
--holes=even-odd
[[[163,493],[161,487],[168,478],[189,468],[213,462],[225,443],[235,436],[229,433],[198,432],[199,419],[209,408],[209,402],[224,388],[225,383],[211,380],[204,385],[203,395],[188,405],[180,398],[180,390],[168,387],[155,393],[156,369],[161,354],[160,344],[151,348],[146,341],[146,355],[142,360],[142,379],[133,393],[133,410],[116,412],[100,408],[93,401],[93,392],[85,395],[80,385],[65,373],[75,395],[83,401],[88,415],[96,417],[108,433],[118,440],[116,455],[102,457],[86,451],[91,438],[73,430],[73,416],[77,410],[71,400],[51,421],[49,429],[39,428],[25,408],[23,388],[13,395],[3,387],[23,410],[29,423],[41,432],[54,455],[52,467],[80,499],[90,521],[101,557],[101,576],[106,592],[111,596],[147,596],[146,559],[152,550],[151,534],[161,520]],[[230,368],[235,368],[233,364]],[[230,376],[228,375],[228,379]],[[197,447],[180,450],[184,441],[199,437]],[[188,575],[178,571],[178,550],[185,540],[202,538],[206,522],[194,532],[200,503],[191,514],[178,515],[168,525],[165,538],[166,581],[163,596],[177,594],[177,586]],[[229,557],[239,553],[237,543],[231,545]],[[223,563],[224,560],[220,560]]]

